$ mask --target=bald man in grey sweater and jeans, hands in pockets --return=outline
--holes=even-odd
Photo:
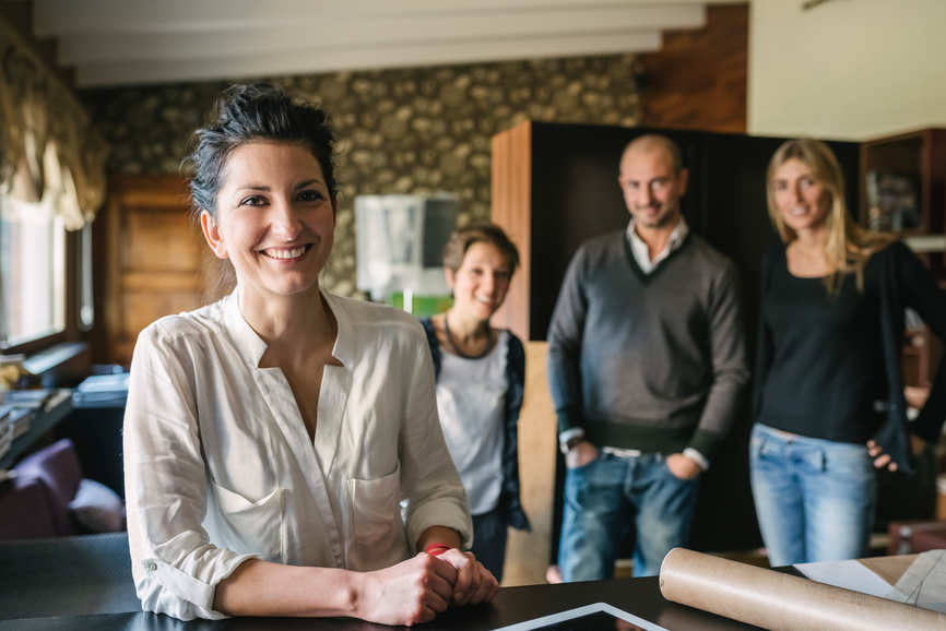
[[[636,576],[686,545],[699,475],[748,382],[738,275],[689,233],[688,175],[664,136],[627,146],[618,181],[630,223],[581,246],[552,316],[565,581],[612,578],[631,523]]]

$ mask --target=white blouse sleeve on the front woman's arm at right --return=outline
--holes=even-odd
[[[434,362],[421,335],[417,342],[399,445],[402,499],[407,500],[407,541],[413,550],[424,531],[446,526],[460,533],[461,546],[469,548],[473,522],[466,493],[440,429]]]

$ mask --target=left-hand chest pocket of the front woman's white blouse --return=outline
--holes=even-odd
[[[226,548],[239,553],[261,555],[284,563],[285,489],[277,488],[255,502],[211,483],[220,509],[218,535]],[[211,540],[213,541],[213,535]]]

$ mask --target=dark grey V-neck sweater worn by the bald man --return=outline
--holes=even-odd
[[[548,329],[558,431],[646,453],[708,460],[748,382],[738,274],[690,234],[650,274],[624,230],[576,253]]]

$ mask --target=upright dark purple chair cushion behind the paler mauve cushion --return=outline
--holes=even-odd
[[[79,466],[79,456],[75,448],[68,438],[56,442],[46,449],[24,457],[14,467],[16,475],[24,481],[42,480],[49,513],[56,526],[57,536],[74,535],[75,525],[69,515],[69,502],[79,490],[82,481],[82,468]]]

